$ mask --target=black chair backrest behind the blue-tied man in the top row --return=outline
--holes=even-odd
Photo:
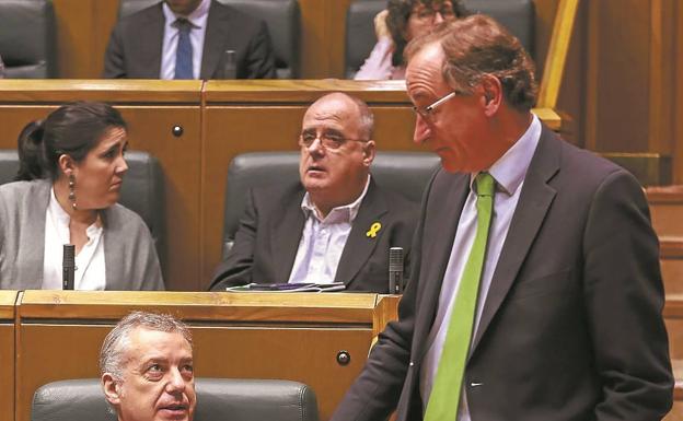
[[[297,79],[300,74],[299,38],[301,34],[301,11],[298,0],[218,0],[223,4],[266,22],[278,79]],[[120,0],[118,15],[127,16],[159,0]],[[1,54],[1,52],[0,52]]]

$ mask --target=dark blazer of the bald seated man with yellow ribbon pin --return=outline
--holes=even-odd
[[[289,280],[305,219],[300,183],[285,189],[251,189],[234,246],[213,277],[211,290],[250,282],[282,283]],[[389,291],[389,248],[403,247],[409,261],[410,241],[418,206],[370,182],[351,232],[344,246],[335,281],[347,290]],[[375,237],[366,235],[374,222],[382,227]]]

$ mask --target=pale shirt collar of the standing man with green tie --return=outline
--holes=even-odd
[[[517,191],[524,180],[526,169],[529,169],[529,164],[531,164],[531,159],[539,144],[539,139],[541,139],[541,121],[535,114],[532,114],[531,124],[524,135],[488,168],[488,174],[496,180],[497,189],[505,191],[509,196]],[[473,173],[470,176],[471,189],[476,174]]]

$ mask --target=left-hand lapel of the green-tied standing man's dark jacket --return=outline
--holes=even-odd
[[[416,315],[414,343],[417,343],[418,348],[414,351],[418,356],[415,361],[422,361],[427,351],[425,346],[439,307],[443,276],[451,258],[460,214],[470,194],[468,174],[451,175],[441,171],[439,175],[444,177],[441,183],[448,185],[445,189],[435,188],[430,191],[426,211],[428,218],[425,219],[424,235],[419,238],[421,243],[419,289],[425,296],[419,299]]]

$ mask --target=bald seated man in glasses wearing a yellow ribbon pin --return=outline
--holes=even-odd
[[[372,130],[372,113],[358,98],[332,93],[313,103],[299,137],[300,182],[247,192],[211,289],[344,282],[347,290],[387,292],[389,249],[403,247],[408,261],[417,204],[370,176]]]

